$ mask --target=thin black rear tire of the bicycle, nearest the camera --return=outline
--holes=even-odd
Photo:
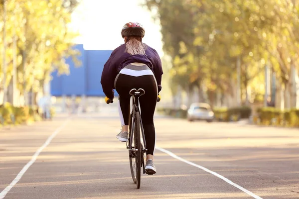
[[[140,189],[141,184],[141,161],[143,159],[142,151],[141,151],[141,140],[140,140],[140,113],[136,112],[136,118],[135,118],[135,144],[137,145],[137,151],[136,151],[136,180],[137,180],[137,189]]]

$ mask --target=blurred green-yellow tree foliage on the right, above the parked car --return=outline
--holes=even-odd
[[[291,69],[298,68],[297,3],[146,0],[146,5],[158,11],[155,17],[161,23],[164,50],[173,58],[173,82],[178,85],[189,88],[194,80],[195,85],[205,84],[212,103],[217,93],[233,97],[240,58],[246,102],[249,88],[254,95],[265,92],[260,85],[266,64],[291,88]]]

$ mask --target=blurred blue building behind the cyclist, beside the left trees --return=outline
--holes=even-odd
[[[57,71],[52,73],[51,95],[104,97],[101,75],[112,50],[85,50],[82,44],[75,45],[74,48],[81,53],[78,59],[82,65],[75,67],[72,58],[67,58],[66,63],[70,66],[70,74],[58,75]]]

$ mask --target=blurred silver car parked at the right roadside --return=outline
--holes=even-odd
[[[206,120],[211,122],[214,119],[214,112],[207,103],[192,103],[187,113],[188,121]]]

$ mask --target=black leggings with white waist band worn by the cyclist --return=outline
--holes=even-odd
[[[147,155],[153,155],[155,145],[155,129],[153,114],[157,101],[157,84],[153,73],[148,66],[128,65],[120,71],[115,80],[115,88],[119,94],[119,113],[121,123],[129,125],[130,99],[129,92],[132,89],[144,89],[145,95],[139,99],[142,124],[147,142]]]

